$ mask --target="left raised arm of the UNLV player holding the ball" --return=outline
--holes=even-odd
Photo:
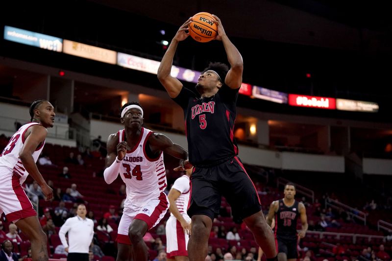
[[[178,29],[158,68],[158,79],[162,83],[163,87],[165,87],[171,98],[177,97],[182,88],[182,83],[178,79],[172,77],[170,72],[172,70],[173,57],[175,50],[177,49],[178,42],[185,40],[189,35],[189,33],[186,33],[185,31],[188,30],[190,22],[191,18]]]

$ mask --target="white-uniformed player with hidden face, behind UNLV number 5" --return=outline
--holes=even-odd
[[[166,223],[166,252],[168,261],[188,261],[188,240],[191,218],[187,214],[192,169],[176,179],[169,191],[170,217]]]

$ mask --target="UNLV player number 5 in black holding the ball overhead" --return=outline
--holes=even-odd
[[[216,40],[223,47],[230,70],[221,63],[210,63],[199,76],[196,95],[170,74],[175,50],[189,33],[188,19],[177,31],[158,69],[158,79],[169,96],[184,110],[189,146],[189,162],[195,166],[191,175],[192,192],[188,214],[192,217],[192,237],[188,255],[191,261],[204,261],[208,237],[215,214],[219,213],[221,195],[233,213],[244,219],[256,242],[269,260],[276,259],[273,234],[261,211],[258,193],[237,157],[233,129],[237,116],[236,102],[242,83],[243,60],[238,49],[226,36],[221,20]]]

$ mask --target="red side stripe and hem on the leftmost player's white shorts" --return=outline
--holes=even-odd
[[[5,216],[9,221],[14,221],[17,219],[22,219],[25,217],[37,215],[37,213],[33,209],[33,205],[31,204],[30,200],[28,199],[25,193],[25,190],[23,190],[21,186],[19,178],[20,176],[18,174],[16,173],[12,174],[12,189],[14,190],[19,203],[21,204],[22,210],[6,214]]]

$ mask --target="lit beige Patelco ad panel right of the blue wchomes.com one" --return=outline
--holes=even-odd
[[[102,63],[116,64],[117,52],[64,39],[63,52]]]

